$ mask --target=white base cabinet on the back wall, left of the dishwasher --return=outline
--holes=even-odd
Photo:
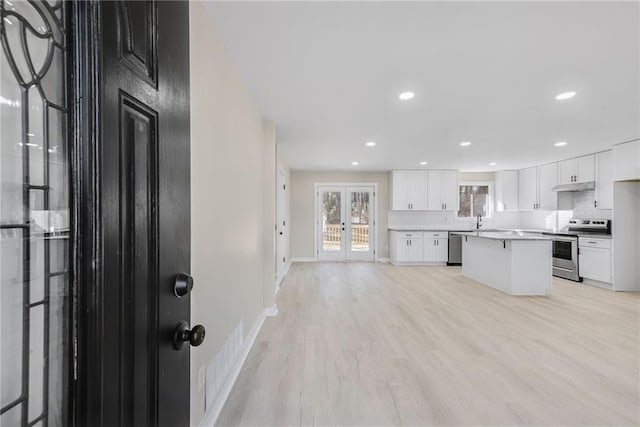
[[[449,258],[449,233],[391,232],[391,261],[394,264],[445,264]]]

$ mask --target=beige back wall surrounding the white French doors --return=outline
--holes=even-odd
[[[387,213],[389,210],[389,173],[388,172],[291,172],[291,257],[312,258],[315,256],[314,244],[314,183],[377,183],[378,184],[378,243],[379,258],[389,257],[389,233],[387,232]]]

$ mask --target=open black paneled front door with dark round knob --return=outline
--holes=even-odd
[[[174,292],[176,276],[190,267],[189,4],[79,7],[96,30],[87,35],[95,80],[89,75],[85,86],[96,161],[85,179],[95,180],[89,205],[97,216],[78,212],[94,227],[84,250],[94,244],[95,255],[81,268],[93,263],[95,286],[79,319],[77,421],[187,426],[189,345],[176,349],[173,338],[190,316],[189,294]]]

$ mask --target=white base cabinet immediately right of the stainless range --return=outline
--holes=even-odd
[[[578,271],[584,279],[611,283],[611,240],[578,237]]]

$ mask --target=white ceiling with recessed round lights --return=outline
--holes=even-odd
[[[207,7],[292,169],[518,169],[640,137],[638,2]]]

